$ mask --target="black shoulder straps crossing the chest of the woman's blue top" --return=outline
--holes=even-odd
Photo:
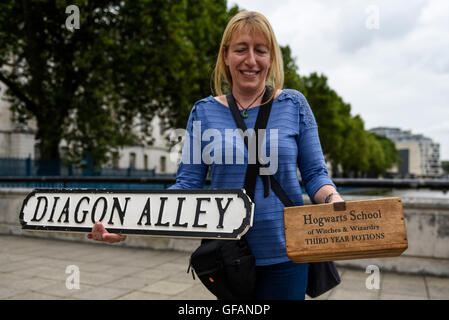
[[[268,118],[270,117],[271,106],[273,104],[273,99],[267,102],[267,100],[271,97],[273,92],[273,88],[267,86],[265,90],[265,94],[262,98],[262,104],[259,109],[259,113],[257,114],[256,124],[254,125],[254,135],[252,139],[256,139],[256,155],[259,154],[260,144],[262,141],[258,141],[258,130],[265,129],[267,127]],[[240,111],[238,110],[237,104],[232,93],[226,95],[226,99],[228,101],[229,109],[231,110],[232,116],[234,117],[234,121],[237,124],[237,127],[242,130],[242,133],[245,132],[248,128],[246,127],[245,122],[243,121]],[[267,103],[266,103],[267,102]],[[245,139],[245,136],[242,136],[243,141],[248,149],[248,141]],[[256,179],[259,175],[259,169],[262,164],[257,158],[255,164],[249,164],[246,169],[245,175],[245,183],[244,188],[248,196],[254,201],[254,193],[256,187]],[[261,176],[263,184],[264,184],[264,195],[268,196],[270,189],[274,191],[274,193],[279,197],[284,206],[290,207],[293,206],[293,202],[290,200],[288,195],[285,193],[284,189],[282,189],[281,185],[278,181],[271,175],[263,175]]]

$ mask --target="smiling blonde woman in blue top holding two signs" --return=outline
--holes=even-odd
[[[296,206],[303,205],[297,167],[314,203],[342,201],[328,176],[312,111],[300,92],[282,90],[283,78],[282,55],[268,20],[257,12],[238,13],[229,21],[220,45],[214,71],[217,96],[195,103],[187,124],[190,141],[185,143],[199,143],[204,150],[204,141],[193,141],[195,125],[200,127],[201,133],[214,129],[222,137],[226,136],[226,129],[236,129],[223,94],[226,89],[237,102],[246,126],[253,128],[266,85],[270,85],[274,88],[274,100],[266,128],[266,146],[271,145],[274,138],[278,146],[277,168],[272,174]],[[270,129],[277,129],[277,136],[271,137]],[[202,161],[195,163],[194,155],[183,153],[176,184],[171,189],[201,189],[209,171],[211,188],[242,188],[248,155],[245,153],[244,164],[230,163],[224,153],[219,152],[230,147],[236,148],[234,141],[225,141],[224,146],[215,144],[215,161],[201,157]],[[222,161],[217,161],[218,154],[223,157],[218,160]],[[260,176],[256,181],[254,202],[253,226],[246,238],[256,258],[255,298],[304,299],[308,265],[293,263],[286,256],[284,205],[274,192],[264,195]],[[89,237],[109,242],[124,240],[124,236],[107,233],[101,224],[94,227]]]

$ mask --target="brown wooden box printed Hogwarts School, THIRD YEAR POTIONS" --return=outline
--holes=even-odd
[[[284,227],[294,262],[395,257],[408,247],[400,198],[286,207]]]

